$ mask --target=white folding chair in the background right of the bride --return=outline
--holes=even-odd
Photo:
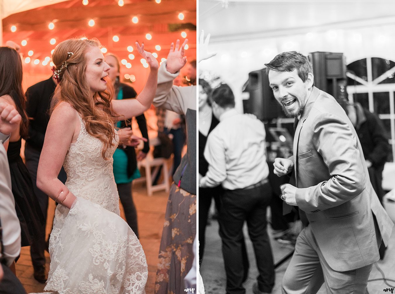
[[[152,185],[152,179],[155,179],[156,175],[159,172],[159,168],[162,166],[163,171],[163,183],[158,185]],[[145,181],[147,185],[147,194],[148,196],[152,196],[152,192],[165,190],[169,192],[170,184],[169,184],[169,167],[167,165],[167,159],[163,157],[153,158],[152,152],[147,154],[147,157],[139,162],[137,162],[137,167],[139,170],[141,167],[145,168],[145,177],[141,177],[139,179],[135,179],[133,182]],[[151,173],[151,169],[153,173]]]

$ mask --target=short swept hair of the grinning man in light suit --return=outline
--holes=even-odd
[[[308,58],[296,51],[283,52],[276,55],[269,63],[265,63],[266,71],[274,70],[275,72],[292,72],[297,70],[297,74],[303,83],[307,80],[308,73],[313,73],[313,67]]]

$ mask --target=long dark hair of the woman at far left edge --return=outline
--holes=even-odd
[[[22,90],[22,60],[17,51],[0,47],[0,96],[9,95],[22,117],[19,133],[28,134],[29,120],[26,113],[26,97]]]

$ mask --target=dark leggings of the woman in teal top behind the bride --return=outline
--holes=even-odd
[[[117,184],[119,199],[124,208],[126,222],[139,237],[139,230],[137,228],[137,211],[132,198],[132,182],[126,184]]]

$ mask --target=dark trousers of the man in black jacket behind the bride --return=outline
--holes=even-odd
[[[32,264],[35,268],[45,265],[44,250],[47,247],[45,242],[45,225],[47,223],[47,209],[48,209],[48,195],[37,188],[37,168],[40,159],[41,151],[30,147],[28,144],[25,146],[25,164],[32,177],[34,193],[37,196],[38,203],[40,204],[41,211],[44,215],[45,222],[41,228],[40,236],[37,237],[30,246],[30,256],[32,257]],[[62,168],[59,172],[58,179],[62,183],[66,182],[66,172]]]

